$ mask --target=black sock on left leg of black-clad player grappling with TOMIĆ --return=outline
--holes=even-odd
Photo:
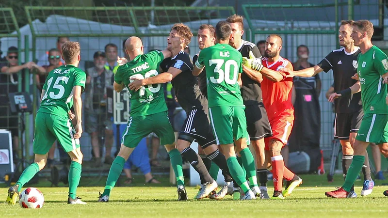
[[[192,148],[187,147],[183,149],[180,155],[184,156],[189,161],[189,163],[194,167],[195,171],[197,171],[199,175],[203,176],[203,180],[205,183],[213,182],[213,178],[211,178],[209,171],[206,170],[205,164],[203,163],[202,159],[197,155],[197,153],[194,152]]]

